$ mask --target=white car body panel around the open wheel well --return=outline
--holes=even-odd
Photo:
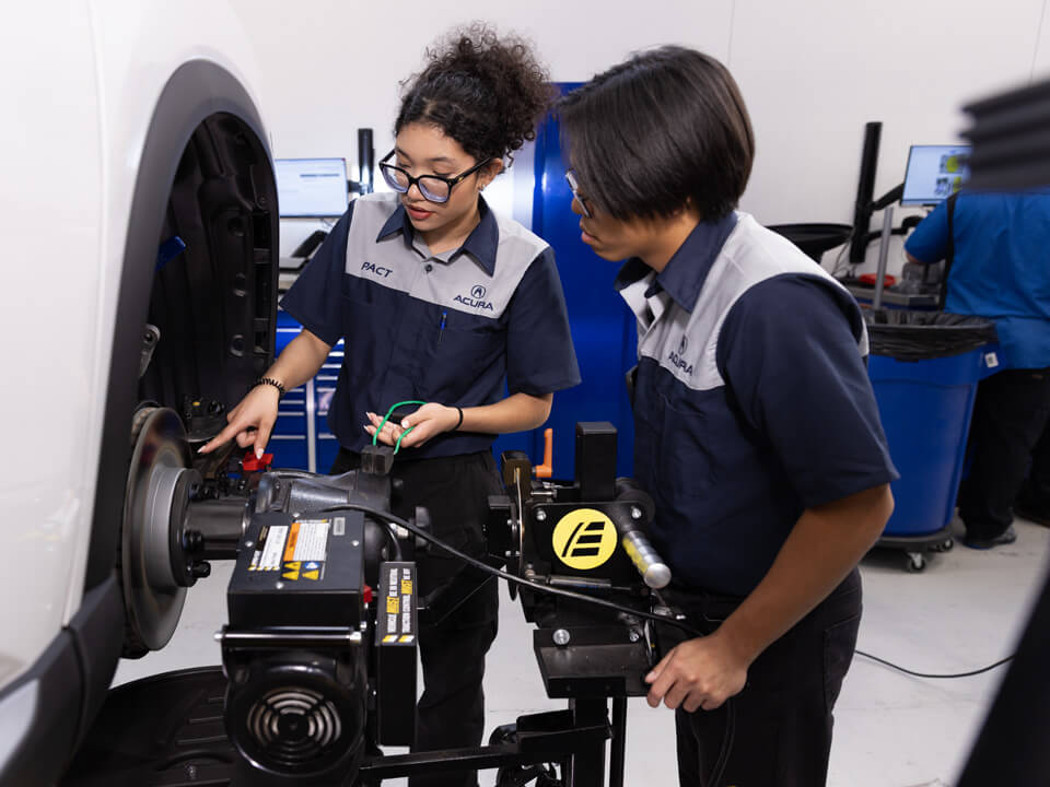
[[[15,756],[25,733],[18,708],[25,712],[42,690],[27,677],[82,608],[100,472],[107,462],[122,462],[119,471],[127,473],[127,456],[103,455],[104,430],[115,337],[140,330],[118,325],[119,296],[137,228],[144,151],[150,134],[166,122],[162,95],[182,67],[198,62],[231,78],[223,84],[238,85],[250,110],[259,107],[250,42],[223,2],[68,0],[21,3],[5,16],[0,27],[0,105],[7,117],[0,126],[0,226],[8,294],[0,317],[8,369],[0,430],[7,448],[0,465],[4,784],[5,757]],[[207,108],[214,98],[222,96],[195,101]],[[265,133],[259,136],[265,148]],[[177,163],[166,172],[174,173]],[[7,707],[5,697],[12,703]],[[71,701],[71,713],[83,716],[80,705]]]

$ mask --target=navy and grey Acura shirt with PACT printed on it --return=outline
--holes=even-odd
[[[398,195],[361,197],[281,302],[325,343],[346,341],[328,412],[342,447],[371,443],[365,412],[399,401],[477,407],[502,399],[504,381],[530,396],[580,383],[553,251],[483,199],[479,208],[463,246],[432,255]],[[446,432],[406,458],[485,450],[494,437]]]

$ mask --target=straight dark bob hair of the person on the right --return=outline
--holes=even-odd
[[[718,221],[747,186],[755,134],[740,91],[693,49],[638,52],[557,113],[581,191],[615,219],[667,216],[689,202]]]

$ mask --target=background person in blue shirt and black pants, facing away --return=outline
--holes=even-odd
[[[975,549],[1017,539],[1015,505],[1026,518],[1050,524],[1050,437],[1040,441],[1050,423],[1048,249],[1050,188],[959,192],[905,244],[911,262],[946,260],[946,312],[987,317],[999,333],[1002,371],[978,385],[970,472],[958,497],[962,542]]]

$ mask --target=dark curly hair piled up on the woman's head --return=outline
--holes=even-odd
[[[402,83],[394,133],[431,124],[478,161],[502,157],[536,139],[553,97],[529,42],[476,22],[427,49],[423,70]]]

